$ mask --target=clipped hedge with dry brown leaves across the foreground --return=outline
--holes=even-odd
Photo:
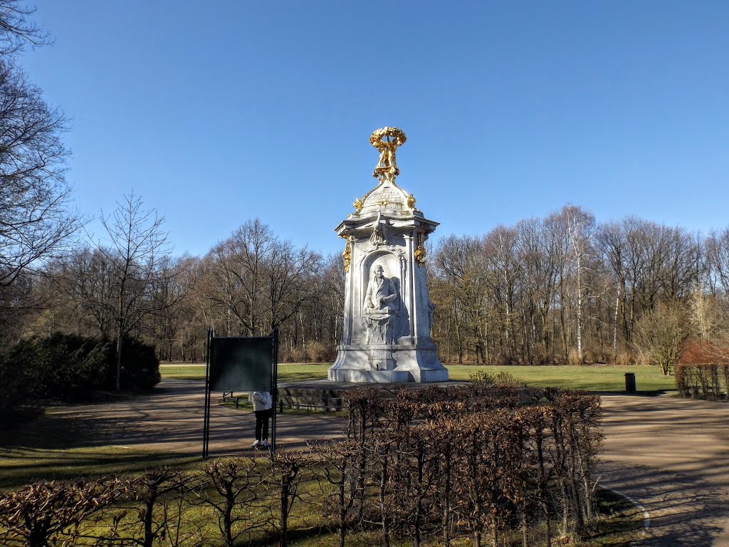
[[[346,438],[311,452],[0,492],[0,544],[535,546],[609,532],[600,397],[493,386],[352,389]]]

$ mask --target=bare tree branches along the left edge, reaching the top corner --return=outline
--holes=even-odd
[[[26,44],[50,43],[20,0],[0,0],[0,338],[49,305],[32,291],[48,259],[82,219],[63,179],[68,153],[63,112],[49,106],[13,61]]]

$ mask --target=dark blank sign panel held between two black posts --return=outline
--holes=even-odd
[[[270,391],[273,337],[212,338],[210,389],[213,391]]]

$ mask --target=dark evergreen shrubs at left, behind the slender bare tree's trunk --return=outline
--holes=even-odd
[[[95,389],[114,389],[115,344],[108,338],[54,333],[21,341],[0,359],[0,410],[34,400],[86,400]],[[160,381],[152,346],[126,338],[121,385],[151,389]]]

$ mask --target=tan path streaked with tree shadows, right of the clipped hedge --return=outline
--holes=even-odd
[[[602,397],[604,486],[641,503],[641,546],[729,546],[729,405]]]

